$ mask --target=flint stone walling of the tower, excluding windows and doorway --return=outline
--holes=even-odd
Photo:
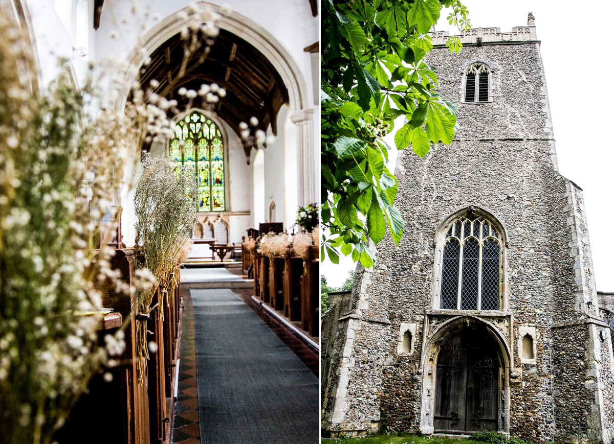
[[[462,74],[476,61],[492,69],[491,101],[462,103]],[[499,316],[493,328],[511,352],[499,409],[508,417],[499,431],[548,442],[556,427],[555,436],[567,442],[609,442],[599,424],[604,406],[612,411],[612,390],[603,388],[612,384],[612,370],[605,370],[611,356],[594,350],[590,322],[597,322],[598,302],[583,199],[557,171],[539,44],[469,46],[460,55],[435,48],[427,63],[438,67],[441,96],[459,105],[460,129],[451,145],[439,144],[424,159],[410,149],[398,156],[395,205],[405,220],[403,239],[396,245],[387,235],[375,268],[357,273],[352,319],[343,346],[336,345],[341,369],[328,372],[336,382],[324,392],[324,429],[333,435],[381,426],[425,430],[421,418],[429,412],[421,410],[433,395],[422,387],[425,329],[467,314],[438,315],[437,234],[450,215],[476,207],[499,221],[505,235],[502,310],[468,313],[486,321]],[[413,353],[399,355],[407,323],[415,324]],[[519,327],[535,331],[530,364],[519,356]]]

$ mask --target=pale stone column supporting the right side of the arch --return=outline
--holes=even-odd
[[[313,109],[293,112],[290,120],[297,126],[298,205],[317,202],[315,141],[313,137]]]

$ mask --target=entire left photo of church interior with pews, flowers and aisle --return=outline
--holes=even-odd
[[[314,442],[317,2],[0,12],[0,440]]]

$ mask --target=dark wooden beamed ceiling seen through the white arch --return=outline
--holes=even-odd
[[[141,69],[143,90],[150,88],[151,80],[157,80],[160,85],[154,92],[175,99],[179,110],[184,110],[188,99],[177,93],[179,88],[198,91],[203,83],[217,83],[226,90],[226,96],[220,98],[214,112],[237,134],[241,134],[239,123],[247,123],[251,117],[258,119],[258,128],[266,131],[271,124],[273,134],[277,134],[277,115],[282,105],[289,103],[289,97],[270,61],[251,44],[223,29],[204,61],[198,63],[201,55],[203,52],[196,53],[187,64],[186,74],[177,78],[184,57],[182,40],[179,34],[166,40]],[[201,105],[200,96],[192,107],[207,109]],[[251,147],[246,144],[243,148],[249,158]]]

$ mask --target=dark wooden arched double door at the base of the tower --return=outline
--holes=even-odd
[[[449,338],[437,358],[436,432],[497,430],[499,360],[484,329],[465,329]]]

